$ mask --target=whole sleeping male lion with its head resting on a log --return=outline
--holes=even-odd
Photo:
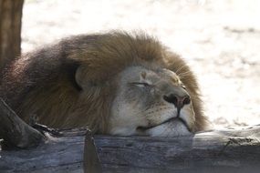
[[[181,56],[144,33],[70,36],[17,58],[0,97],[27,123],[175,137],[206,127],[198,82]]]

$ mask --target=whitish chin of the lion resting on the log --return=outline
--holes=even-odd
[[[178,119],[163,123],[157,127],[149,128],[143,131],[143,133],[151,137],[179,137],[192,135],[186,125]]]

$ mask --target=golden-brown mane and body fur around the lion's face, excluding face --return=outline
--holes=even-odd
[[[72,36],[26,54],[4,71],[0,97],[26,121],[36,115],[39,123],[50,127],[88,125],[106,133],[115,76],[135,65],[161,66],[180,76],[192,98],[195,128],[203,129],[202,102],[190,68],[144,34]]]

